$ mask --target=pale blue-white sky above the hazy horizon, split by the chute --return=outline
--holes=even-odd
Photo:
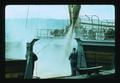
[[[114,5],[81,5],[79,16],[81,15],[90,15],[90,17],[97,15],[99,19],[115,19],[115,7]],[[68,5],[7,5],[5,18],[69,19],[69,11]]]

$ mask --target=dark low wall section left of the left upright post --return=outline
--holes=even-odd
[[[5,78],[24,78],[27,60],[7,58],[5,61]]]

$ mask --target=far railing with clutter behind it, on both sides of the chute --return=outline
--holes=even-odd
[[[98,16],[91,18],[85,15],[87,19],[80,19],[79,37],[84,40],[115,40],[115,23],[111,21],[102,21]],[[97,17],[97,19],[93,19]],[[86,20],[86,21],[85,21]],[[67,34],[69,26],[63,29],[36,29],[36,37],[63,37]]]

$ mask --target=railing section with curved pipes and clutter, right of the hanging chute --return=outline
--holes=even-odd
[[[85,15],[89,20],[81,20],[81,38],[84,40],[115,40],[115,23],[111,21],[101,21],[98,16],[91,18]],[[93,17],[97,19],[93,19]]]

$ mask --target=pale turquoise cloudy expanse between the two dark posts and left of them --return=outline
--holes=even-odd
[[[6,58],[25,59],[27,41],[6,42]],[[71,75],[69,54],[77,47],[72,39],[71,47],[66,48],[66,38],[40,38],[33,48],[38,56],[35,62],[34,76],[51,78]],[[67,53],[65,53],[67,49]]]

